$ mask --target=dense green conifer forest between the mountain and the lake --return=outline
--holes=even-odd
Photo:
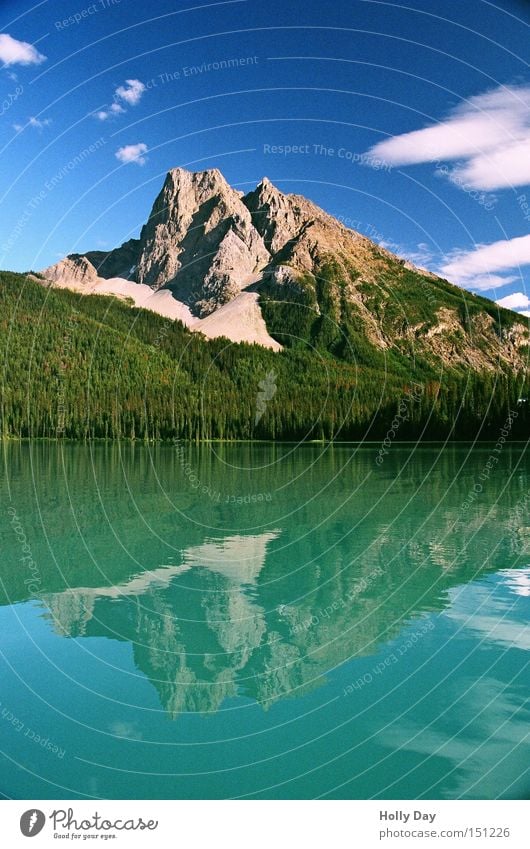
[[[325,303],[326,281],[321,286]],[[274,310],[276,321],[286,316],[270,304],[268,321]],[[347,311],[332,329],[314,315],[307,327],[293,326],[299,339],[305,328],[308,344],[276,354],[206,340],[116,298],[0,272],[1,434],[351,440],[392,429],[400,440],[495,439],[512,409],[512,438],[527,437],[520,374],[448,370],[427,357],[381,352]]]

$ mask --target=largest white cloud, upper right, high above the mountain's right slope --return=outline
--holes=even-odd
[[[389,165],[462,160],[449,171],[463,188],[530,184],[530,86],[500,86],[453,109],[445,121],[379,142]]]

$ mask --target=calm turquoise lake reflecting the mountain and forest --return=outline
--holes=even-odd
[[[506,446],[3,447],[0,793],[530,794]]]

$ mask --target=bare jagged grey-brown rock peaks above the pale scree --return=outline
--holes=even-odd
[[[344,228],[305,198],[283,194],[267,178],[244,196],[216,168],[174,168],[139,239],[109,252],[71,254],[46,273],[76,284],[122,278],[153,290],[167,288],[203,318],[257,284],[265,271],[273,280],[282,262],[291,266],[291,279],[298,271],[312,270],[318,239],[325,235],[333,241],[337,230]]]

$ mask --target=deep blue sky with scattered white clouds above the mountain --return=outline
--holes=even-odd
[[[0,32],[0,267],[115,247],[217,167],[529,312],[529,2],[3,0]]]

